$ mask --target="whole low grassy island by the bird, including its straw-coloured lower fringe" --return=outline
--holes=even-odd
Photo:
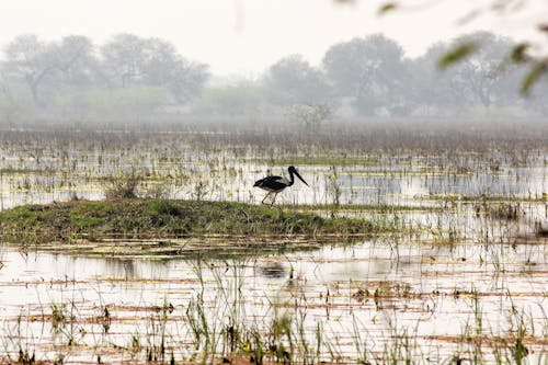
[[[312,248],[379,230],[363,219],[324,218],[233,202],[76,199],[0,212],[2,242],[94,254],[114,254],[113,248],[117,248],[116,255]]]

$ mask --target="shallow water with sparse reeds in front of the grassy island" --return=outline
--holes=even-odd
[[[509,335],[517,310],[527,323],[535,323],[528,328],[530,338],[538,339],[530,352],[539,356],[546,350],[543,337],[548,330],[547,243],[546,239],[523,238],[517,243],[439,244],[386,238],[236,262],[85,259],[22,254],[4,248],[2,340],[5,351],[16,352],[18,340],[7,339],[19,327],[23,342],[38,354],[57,352],[68,355],[66,360],[93,361],[104,343],[127,347],[134,335],[141,343],[152,341],[149,327],[159,316],[155,306],[169,303],[173,311],[167,320],[167,342],[176,358],[187,358],[194,350],[186,313],[202,296],[206,318],[218,332],[228,317],[236,316],[249,328],[269,333],[278,310],[289,313],[294,323],[302,321],[310,343],[321,323],[322,341],[335,346],[338,356],[346,361],[357,356],[354,326],[372,354],[392,343],[395,333],[406,332],[422,352],[441,361],[457,351],[453,341],[466,331]],[[78,345],[73,350],[61,346],[68,330],[53,331],[49,317],[44,317],[61,304],[75,317],[72,335]],[[475,320],[475,304],[480,308],[481,329]],[[96,323],[104,307],[113,318],[107,333]],[[23,316],[19,324],[18,316]],[[437,335],[449,340],[441,341]],[[373,343],[367,340],[372,338]],[[111,356],[103,360],[129,355],[118,351]],[[320,358],[333,361],[332,356],[324,349]]]

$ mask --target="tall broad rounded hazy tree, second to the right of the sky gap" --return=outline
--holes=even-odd
[[[331,46],[323,67],[340,96],[353,98],[356,109],[372,115],[379,109],[406,114],[411,107],[410,64],[399,44],[380,34]]]

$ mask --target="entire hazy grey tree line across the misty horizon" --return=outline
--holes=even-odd
[[[455,45],[481,47],[441,70]],[[208,85],[206,64],[161,38],[118,34],[96,46],[81,35],[56,42],[21,35],[3,49],[0,117],[135,116],[184,113],[217,117],[286,115],[299,106],[353,116],[548,114],[547,82],[520,94],[526,70],[513,41],[477,32],[432,45],[418,58],[381,34],[332,45],[321,64],[290,55],[254,80]]]

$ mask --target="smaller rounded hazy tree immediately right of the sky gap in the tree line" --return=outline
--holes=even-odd
[[[264,83],[269,101],[276,105],[332,102],[324,75],[301,55],[292,55],[272,65]]]

